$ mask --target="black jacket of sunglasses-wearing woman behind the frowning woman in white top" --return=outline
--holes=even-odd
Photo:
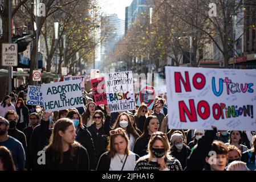
[[[104,126],[100,127],[100,129],[96,129],[95,123],[92,123],[92,125],[88,127],[88,130],[90,131],[92,139],[94,140],[96,159],[98,161],[100,156],[107,150],[108,135],[105,134]]]

